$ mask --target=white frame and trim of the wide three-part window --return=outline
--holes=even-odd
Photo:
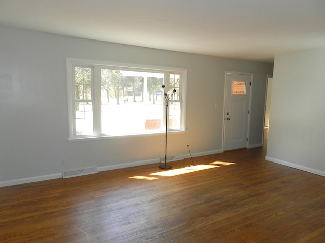
[[[95,139],[95,138],[105,138],[105,137],[119,137],[119,136],[141,136],[148,134],[160,134],[162,131],[153,131],[141,134],[129,134],[129,135],[108,135],[101,134],[101,81],[100,70],[101,68],[110,68],[110,69],[122,69],[122,70],[132,70],[132,71],[144,71],[144,72],[160,72],[164,73],[165,85],[167,85],[166,90],[169,90],[169,80],[170,74],[180,74],[181,84],[179,88],[179,100],[171,100],[169,102],[179,102],[181,108],[181,117],[180,117],[180,129],[168,129],[168,132],[184,132],[185,131],[185,117],[186,117],[186,83],[187,83],[187,69],[184,68],[173,68],[173,67],[161,67],[161,66],[149,66],[149,65],[137,65],[137,64],[125,64],[125,63],[116,63],[116,62],[103,62],[95,60],[86,60],[86,59],[74,59],[67,58],[67,92],[68,92],[68,119],[69,119],[69,135],[68,140],[80,140],[80,139]],[[75,117],[74,117],[74,67],[75,66],[84,66],[93,68],[92,77],[92,102],[93,102],[93,134],[91,135],[76,135],[75,132]],[[170,89],[172,89],[171,87]],[[163,97],[164,98],[164,97]],[[99,101],[99,102],[98,102]],[[165,104],[165,102],[164,102]],[[164,108],[166,112],[166,108]],[[165,114],[164,114],[165,115]],[[165,119],[164,127],[165,127]],[[165,130],[164,130],[165,131]]]

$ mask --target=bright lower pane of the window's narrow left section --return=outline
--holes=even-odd
[[[75,104],[76,135],[93,134],[92,103],[76,102]]]

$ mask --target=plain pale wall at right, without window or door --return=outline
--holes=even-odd
[[[325,49],[276,55],[266,159],[325,176]]]

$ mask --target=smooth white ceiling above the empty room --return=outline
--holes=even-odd
[[[272,63],[325,47],[325,0],[0,0],[0,25]]]

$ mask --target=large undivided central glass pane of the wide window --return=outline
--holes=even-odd
[[[102,133],[125,135],[163,126],[163,73],[101,69]]]

